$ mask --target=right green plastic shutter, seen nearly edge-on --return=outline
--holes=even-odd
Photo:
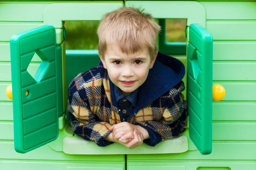
[[[201,154],[212,152],[212,35],[199,24],[189,26],[189,137]]]

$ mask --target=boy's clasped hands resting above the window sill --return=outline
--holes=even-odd
[[[106,140],[120,143],[130,149],[140,146],[145,138],[148,139],[147,130],[128,122],[115,124],[109,130],[111,133],[106,137]]]

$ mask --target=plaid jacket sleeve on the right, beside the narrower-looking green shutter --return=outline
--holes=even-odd
[[[138,122],[149,134],[149,139],[144,140],[145,144],[155,146],[166,139],[179,137],[187,128],[187,102],[181,93],[182,88],[178,88],[175,94],[170,91],[160,121]]]

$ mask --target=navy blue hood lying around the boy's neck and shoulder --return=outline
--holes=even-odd
[[[102,62],[100,62],[98,66],[103,68]],[[184,75],[185,66],[180,60],[158,52],[153,68],[149,70],[146,81],[140,86],[137,96],[137,104],[134,110],[139,111],[165,94],[177,85],[183,79]],[[101,76],[104,76],[103,72],[101,72]],[[114,99],[113,82],[111,82],[110,79],[109,82],[111,98]],[[112,104],[117,107],[117,104],[114,101],[115,100],[112,100]]]

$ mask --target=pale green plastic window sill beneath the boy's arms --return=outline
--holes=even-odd
[[[183,153],[188,149],[188,139],[184,135],[174,139],[167,139],[154,147],[143,143],[134,149],[129,149],[117,143],[99,147],[94,142],[86,141],[76,135],[66,136],[63,141],[63,152],[72,155]]]

